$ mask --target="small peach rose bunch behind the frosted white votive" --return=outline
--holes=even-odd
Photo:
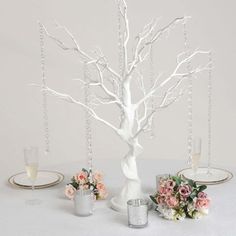
[[[83,168],[71,178],[71,183],[66,185],[65,195],[69,199],[74,199],[75,192],[80,189],[91,189],[96,200],[105,199],[107,197],[107,190],[103,183],[103,175],[100,172],[94,172],[93,174]]]

